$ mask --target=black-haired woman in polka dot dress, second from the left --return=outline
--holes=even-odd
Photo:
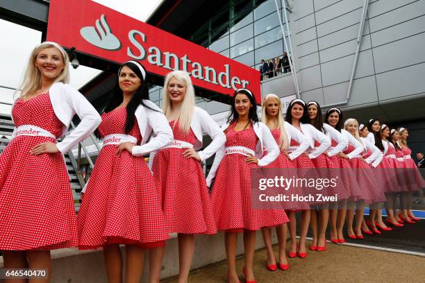
[[[118,71],[117,87],[101,115],[96,134],[103,147],[78,212],[79,247],[103,247],[110,282],[122,280],[126,245],[126,282],[142,274],[143,248],[164,246],[169,238],[160,196],[144,155],[172,141],[163,112],[147,100],[146,72],[136,61]],[[149,139],[153,131],[155,137]],[[151,282],[158,281],[162,259],[153,262]]]

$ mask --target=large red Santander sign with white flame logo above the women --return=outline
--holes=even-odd
[[[112,62],[138,60],[160,76],[187,71],[194,85],[213,92],[245,87],[261,101],[257,70],[94,1],[51,0],[47,40]]]

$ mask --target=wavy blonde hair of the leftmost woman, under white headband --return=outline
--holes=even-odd
[[[35,46],[33,52],[31,53],[24,74],[24,78],[22,79],[22,83],[19,87],[19,89],[22,89],[19,98],[26,98],[26,96],[33,94],[38,89],[41,89],[42,76],[38,67],[35,66],[35,60],[37,59],[38,53],[40,53],[40,51],[51,47],[54,47],[58,49],[58,51],[60,51],[60,55],[62,55],[62,62],[64,65],[63,71],[59,74],[59,76],[55,78],[53,83],[69,83],[69,58],[67,53],[62,48],[62,46],[60,46],[56,42],[43,42],[42,44],[38,44],[38,46]]]

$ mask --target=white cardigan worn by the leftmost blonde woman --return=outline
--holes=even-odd
[[[53,112],[63,123],[62,136],[68,131],[69,124],[75,114],[81,119],[78,126],[63,141],[56,144],[61,153],[67,153],[79,141],[90,136],[102,120],[99,113],[83,94],[68,84],[53,83],[49,89],[49,97]],[[15,131],[16,128],[13,130],[12,138],[15,137]]]

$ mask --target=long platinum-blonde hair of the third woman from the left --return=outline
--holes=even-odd
[[[190,76],[185,71],[172,71],[165,77],[165,83],[163,87],[163,111],[167,118],[169,118],[172,105],[168,97],[168,84],[169,80],[175,78],[179,82],[186,86],[185,97],[181,103],[180,111],[178,113],[179,128],[183,132],[188,133],[190,131],[190,123],[192,122],[192,116],[194,112],[194,87]]]

